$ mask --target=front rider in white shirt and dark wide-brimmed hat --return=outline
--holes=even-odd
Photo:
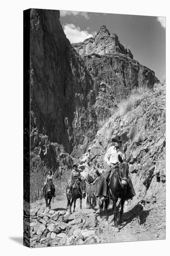
[[[108,167],[105,169],[103,179],[98,188],[96,197],[102,195],[101,201],[105,200],[105,196],[107,195],[107,181],[111,174],[112,167],[114,168],[116,165],[119,165],[118,155],[123,159],[124,150],[122,148],[122,141],[119,135],[116,135],[111,139],[111,147],[107,150],[105,154],[105,162],[107,162]]]

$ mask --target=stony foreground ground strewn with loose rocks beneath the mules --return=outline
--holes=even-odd
[[[110,205],[109,221],[99,216],[99,209],[87,209],[86,199],[82,210],[77,202],[75,212],[66,209],[67,200],[55,200],[46,209],[45,200],[29,205],[25,202],[24,243],[30,247],[113,243],[165,239],[165,207],[163,205],[137,204],[124,212],[119,232],[115,232],[113,212]],[[28,222],[30,221],[30,227]]]

